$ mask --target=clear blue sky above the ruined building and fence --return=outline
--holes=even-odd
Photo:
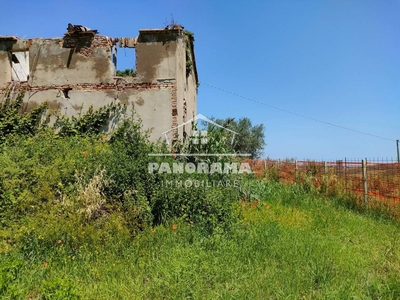
[[[396,157],[399,0],[3,0],[1,8],[0,35],[26,38],[62,36],[68,23],[134,37],[172,14],[195,34],[198,112],[264,124],[266,157]]]

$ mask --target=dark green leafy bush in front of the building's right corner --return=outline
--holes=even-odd
[[[215,132],[215,135],[209,135],[210,140],[207,146],[209,153],[226,152],[221,148],[223,143],[218,140],[217,134],[220,133]],[[125,120],[110,139],[112,151],[109,154],[111,156],[105,156],[102,162],[112,176],[112,183],[106,189],[106,193],[122,203],[122,208],[131,215],[131,224],[137,223],[137,220],[146,220],[142,226],[139,226],[139,228],[145,228],[149,223],[161,224],[174,218],[184,218],[187,221],[203,223],[207,226],[207,230],[210,230],[225,222],[227,224],[232,222],[234,219],[232,204],[239,198],[238,189],[209,185],[213,183],[219,183],[219,186],[226,185],[228,181],[233,185],[234,176],[219,173],[151,173],[148,170],[150,163],[172,165],[179,162],[197,163],[199,160],[193,159],[196,158],[195,156],[190,156],[191,160],[150,156],[149,154],[158,152],[168,154],[168,150],[162,145],[149,143],[147,138],[148,133],[143,132],[140,123]],[[205,151],[187,144],[176,145],[176,147],[180,149],[180,153],[193,154]],[[227,162],[228,160],[214,157],[214,162],[217,161]],[[211,162],[207,160],[207,163]],[[201,182],[203,187],[195,187],[194,184],[197,182]],[[188,187],[185,183],[192,185]],[[134,209],[132,209],[132,204]],[[134,230],[135,228],[138,228],[138,224],[133,227]]]

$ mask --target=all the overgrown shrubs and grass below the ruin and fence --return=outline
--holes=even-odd
[[[352,199],[246,174],[150,172],[200,161],[150,143],[135,115],[102,132],[123,107],[53,127],[22,121],[32,111],[16,105],[0,120],[14,124],[0,148],[2,299],[400,297],[399,225],[345,209]],[[223,132],[207,139],[176,150],[231,151]]]

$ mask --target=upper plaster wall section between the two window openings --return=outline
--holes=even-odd
[[[114,83],[112,41],[105,36],[35,39],[29,48],[30,86]]]

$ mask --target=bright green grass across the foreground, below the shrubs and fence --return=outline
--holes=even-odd
[[[114,230],[107,242],[91,240],[74,249],[55,242],[35,256],[4,240],[0,295],[2,299],[400,298],[398,223],[348,210],[335,199],[305,193],[297,186],[258,182],[247,191],[252,200],[238,201],[242,218],[229,232],[216,228],[205,235],[201,224],[177,222],[176,230],[171,224],[158,226],[135,238]],[[118,218],[109,221],[118,228]]]

